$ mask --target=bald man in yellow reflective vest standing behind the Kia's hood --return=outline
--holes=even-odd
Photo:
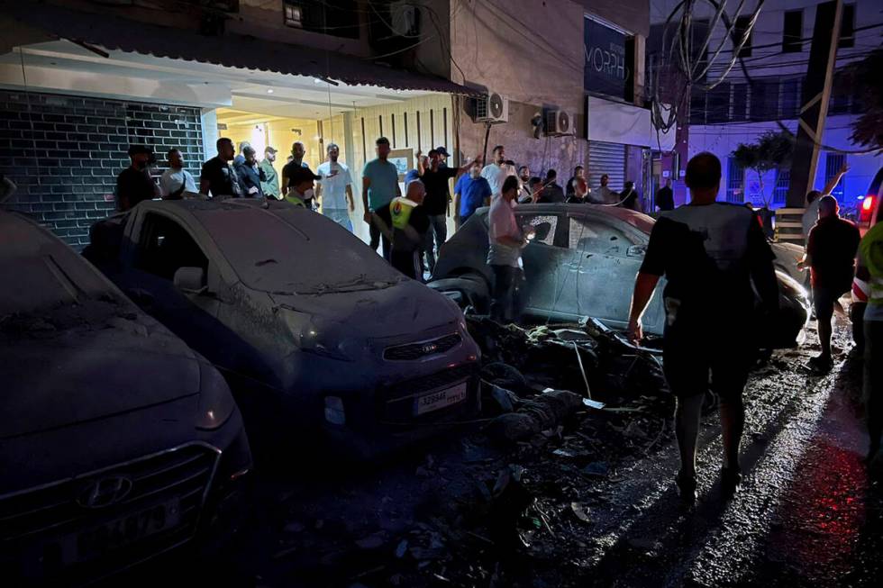
[[[414,280],[423,281],[420,248],[429,231],[429,215],[423,208],[426,186],[420,180],[408,184],[405,196],[389,203],[392,221],[392,251],[389,262],[398,271]]]

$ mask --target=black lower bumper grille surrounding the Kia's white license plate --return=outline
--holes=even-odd
[[[380,399],[381,403],[379,407],[379,420],[400,423],[435,421],[443,419],[450,412],[458,412],[462,409],[462,404],[475,402],[475,394],[478,387],[474,375],[477,373],[477,364],[463,364],[388,386],[378,394],[378,399]],[[469,396],[466,403],[458,403],[449,409],[442,409],[437,412],[428,412],[420,417],[414,416],[414,397],[416,395],[460,384],[463,381],[469,381]]]

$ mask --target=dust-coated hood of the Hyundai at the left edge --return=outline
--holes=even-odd
[[[55,430],[199,393],[201,359],[117,303],[0,323],[0,439]],[[194,415],[195,416],[195,415]]]

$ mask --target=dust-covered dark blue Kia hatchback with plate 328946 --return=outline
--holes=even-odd
[[[250,429],[372,456],[478,411],[479,352],[457,304],[321,214],[144,202],[92,235],[86,254],[222,369]]]

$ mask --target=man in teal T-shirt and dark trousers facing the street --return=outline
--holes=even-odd
[[[384,217],[388,217],[389,203],[402,195],[402,189],[398,185],[396,164],[387,159],[389,140],[386,137],[377,140],[377,150],[378,157],[362,168],[362,204],[365,207],[365,222],[369,224],[370,247],[377,251],[378,244],[382,244],[383,258],[389,261],[390,242],[376,226],[374,216],[378,215],[388,225],[390,221]]]

